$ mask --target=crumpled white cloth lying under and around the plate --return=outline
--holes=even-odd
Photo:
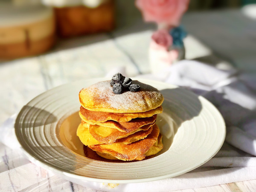
[[[15,141],[15,116],[0,128],[0,145],[3,163],[0,166],[1,190],[55,190],[60,191],[172,191],[195,189],[224,183],[256,179],[256,87],[250,74],[236,70],[218,70],[197,61],[180,61],[169,67],[165,78],[152,74],[138,76],[177,84],[205,96],[224,116],[227,124],[226,142],[221,150],[204,165],[183,175],[146,183],[108,185],[88,182],[85,188],[61,179],[22,157]],[[124,68],[110,71],[125,73]],[[6,134],[7,133],[7,134]],[[3,150],[4,149],[4,150]],[[17,177],[18,176],[18,177]],[[3,181],[3,182],[2,182]],[[111,188],[113,186],[114,188]]]

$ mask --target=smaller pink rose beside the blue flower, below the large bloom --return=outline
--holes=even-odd
[[[172,36],[166,29],[160,29],[154,32],[151,38],[156,46],[158,46],[159,48],[164,48],[168,50],[169,47],[172,45]]]

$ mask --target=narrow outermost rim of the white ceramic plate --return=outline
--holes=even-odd
[[[58,89],[58,88],[61,88],[61,87],[65,87],[69,84],[77,84],[79,82],[83,82],[83,81],[93,81],[93,82],[98,82],[98,81],[104,81],[104,80],[109,80],[109,78],[93,78],[93,79],[81,79],[79,81],[73,81],[73,82],[69,82],[69,83],[66,83],[66,84],[61,84],[59,86],[56,86],[56,87],[53,87],[41,94],[39,94],[38,96],[35,96],[33,99],[31,99],[26,105],[28,105],[30,102],[32,102],[33,100],[37,99],[38,97],[40,97],[41,95],[45,94],[46,92],[49,92],[51,90],[55,90],[55,89]],[[139,80],[139,81],[147,81],[149,82],[148,84],[150,84],[150,82],[152,83],[155,83],[155,84],[163,84],[163,85],[167,85],[168,87],[179,87],[177,85],[174,85],[174,84],[169,84],[169,83],[166,83],[166,82],[162,82],[162,81],[154,81],[154,80],[151,80],[151,79],[144,79],[144,78],[134,78],[134,80]],[[157,88],[157,87],[156,87]],[[180,87],[179,87],[180,88]],[[182,87],[181,87],[182,88]],[[184,89],[184,88],[182,88]],[[184,89],[186,90],[186,89]],[[73,174],[73,173],[68,173],[68,172],[64,172],[64,171],[61,171],[57,168],[55,168],[54,166],[51,166],[51,165],[48,165],[47,163],[44,163],[42,162],[41,160],[38,160],[37,158],[33,157],[32,154],[29,153],[29,151],[26,151],[26,149],[24,149],[22,147],[22,144],[20,143],[20,140],[18,139],[18,136],[17,136],[17,131],[16,131],[16,125],[17,125],[17,120],[18,120],[18,117],[20,116],[20,114],[22,113],[22,109],[20,110],[20,112],[18,113],[17,115],[17,118],[15,119],[15,137],[17,139],[17,141],[20,143],[20,150],[23,152],[23,154],[25,154],[25,156],[32,162],[32,163],[35,163],[36,165],[39,165],[41,167],[43,167],[44,169],[47,169],[47,170],[50,170],[52,171],[53,173],[58,173],[58,176],[61,177],[61,175],[64,175],[65,177],[71,177],[71,178],[74,178],[74,179],[79,179],[79,180],[84,180],[84,181],[93,181],[93,182],[100,182],[100,183],[141,183],[141,182],[150,182],[150,181],[155,181],[155,180],[161,180],[161,179],[166,179],[166,178],[171,178],[171,177],[176,177],[178,175],[182,175],[186,172],[189,172],[189,171],[192,171],[196,168],[198,168],[199,166],[203,165],[204,163],[206,163],[207,161],[209,161],[212,157],[215,156],[215,154],[218,153],[218,151],[221,149],[221,146],[223,145],[224,141],[225,141],[225,137],[226,137],[226,125],[225,125],[225,122],[224,122],[224,119],[223,119],[223,116],[221,115],[221,113],[218,111],[218,109],[211,103],[209,102],[206,98],[204,98],[204,96],[199,96],[195,93],[193,93],[192,91],[190,90],[187,90],[189,91],[190,93],[192,93],[194,96],[196,97],[200,97],[201,99],[204,100],[204,102],[206,102],[208,105],[211,106],[211,108],[213,108],[215,110],[215,115],[218,115],[219,117],[219,120],[221,120],[221,127],[223,128],[223,132],[224,134],[222,134],[222,138],[221,138],[221,143],[219,143],[218,145],[218,150],[216,150],[214,153],[212,153],[206,160],[204,160],[203,162],[199,163],[197,166],[193,167],[192,169],[191,168],[187,168],[187,169],[183,169],[179,172],[175,172],[175,173],[172,173],[172,174],[167,174],[167,175],[162,175],[162,176],[157,176],[157,177],[147,177],[147,178],[139,178],[139,179],[120,179],[120,180],[115,180],[115,179],[102,179],[102,178],[94,178],[94,177],[86,177],[86,176],[81,176],[81,175],[76,175],[76,174]],[[24,105],[24,106],[26,106]],[[57,121],[59,121],[60,119],[57,119]],[[59,175],[61,174],[61,175]],[[68,180],[68,178],[66,178]]]

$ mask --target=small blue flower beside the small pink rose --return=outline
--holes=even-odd
[[[186,37],[187,32],[185,31],[183,26],[173,28],[170,31],[170,35],[172,35],[172,44],[174,47],[181,48],[184,46],[183,39]]]

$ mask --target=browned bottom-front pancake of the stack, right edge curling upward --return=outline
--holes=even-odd
[[[128,145],[113,143],[112,145],[101,144],[90,145],[89,147],[93,151],[110,154],[120,160],[143,160],[148,150],[156,143],[158,135],[159,128],[154,124],[151,133],[143,140]]]

